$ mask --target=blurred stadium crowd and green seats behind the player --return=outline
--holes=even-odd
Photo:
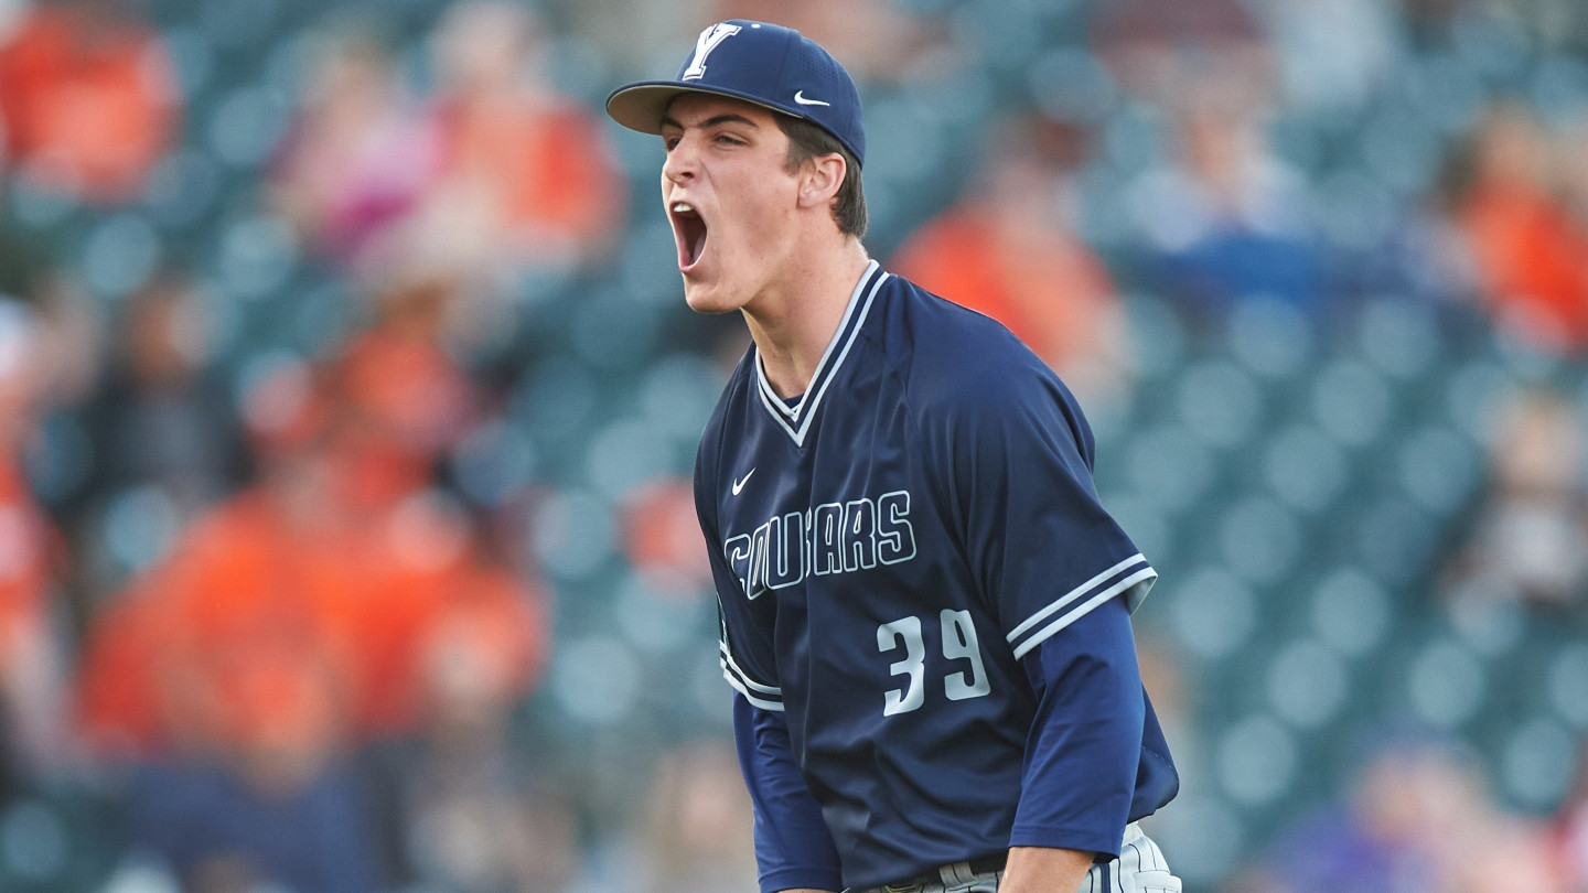
[[[1080,394],[1186,890],[1588,890],[1575,0],[0,0],[0,890],[754,888],[600,113],[729,16]]]

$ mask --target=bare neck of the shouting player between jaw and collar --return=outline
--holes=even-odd
[[[802,394],[843,321],[856,283],[870,257],[858,238],[845,238],[786,276],[783,288],[745,305],[767,381],[780,397]]]

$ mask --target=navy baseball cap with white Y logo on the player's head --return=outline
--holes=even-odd
[[[861,94],[843,65],[797,30],[729,19],[696,38],[672,81],[638,81],[607,97],[607,114],[642,133],[661,133],[662,114],[680,94],[716,94],[804,118],[837,137],[865,162]]]

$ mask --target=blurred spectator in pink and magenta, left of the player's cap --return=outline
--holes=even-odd
[[[373,37],[327,35],[302,83],[303,108],[272,162],[273,202],[321,256],[383,262],[392,227],[437,176],[435,133]]]

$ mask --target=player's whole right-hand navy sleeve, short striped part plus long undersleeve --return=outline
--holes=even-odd
[[[926,426],[961,543],[1037,712],[1012,845],[1118,855],[1142,753],[1129,615],[1156,572],[1102,508],[1070,392],[1021,351]],[[956,416],[958,423],[951,423]]]

